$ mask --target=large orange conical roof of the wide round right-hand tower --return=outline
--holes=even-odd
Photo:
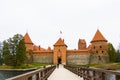
[[[105,37],[102,35],[102,33],[99,30],[97,30],[97,32],[95,33],[91,43],[96,42],[96,41],[105,41],[105,42],[107,42],[107,40],[105,39]]]

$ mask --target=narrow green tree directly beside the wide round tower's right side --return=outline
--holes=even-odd
[[[116,51],[111,43],[108,43],[108,54],[110,62],[116,61]]]

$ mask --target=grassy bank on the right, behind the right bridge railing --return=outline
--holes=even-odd
[[[118,70],[118,69],[120,69],[120,63],[92,64],[92,65],[90,65],[90,67]]]

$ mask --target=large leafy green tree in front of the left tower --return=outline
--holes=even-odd
[[[3,59],[6,65],[19,66],[24,63],[25,58],[26,48],[22,35],[16,34],[3,42]]]

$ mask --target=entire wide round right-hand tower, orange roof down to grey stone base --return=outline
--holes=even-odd
[[[90,52],[94,55],[92,58],[93,63],[106,63],[108,62],[108,44],[102,33],[97,30],[92,41]]]

